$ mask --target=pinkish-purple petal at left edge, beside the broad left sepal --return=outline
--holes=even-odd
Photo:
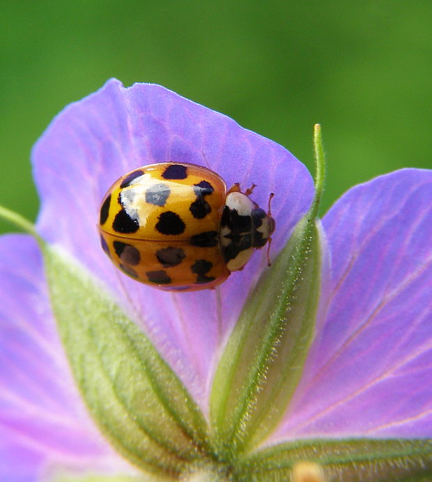
[[[125,465],[79,398],[49,307],[40,251],[26,235],[0,238],[0,346],[0,480],[37,479],[52,465]]]

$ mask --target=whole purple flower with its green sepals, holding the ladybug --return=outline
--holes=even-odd
[[[227,185],[254,182],[259,205],[275,192],[275,265],[268,270],[258,251],[220,288],[196,293],[164,293],[116,270],[100,249],[102,196],[127,171],[165,161],[208,163]],[[56,260],[78,267],[63,273],[43,248],[46,277],[29,235],[0,240],[0,480],[133,478],[140,469],[172,480],[193,467],[196,480],[210,480],[217,464],[229,467],[227,480],[285,480],[302,460],[318,464],[316,481],[428,474],[432,171],[405,169],[354,187],[321,230],[302,231],[295,226],[314,185],[284,148],[165,88],[125,89],[115,80],[54,119],[33,166],[38,233]],[[302,244],[308,237],[315,244]],[[88,300],[62,305],[80,293],[80,276],[92,287]],[[96,299],[113,302],[113,325],[125,316],[141,331],[121,321],[108,339],[109,324],[95,329],[104,316],[98,325],[86,320]],[[272,306],[280,313],[270,315]],[[134,345],[141,333],[167,366],[148,341]],[[123,356],[132,345],[133,357]],[[142,453],[149,455],[141,464]]]

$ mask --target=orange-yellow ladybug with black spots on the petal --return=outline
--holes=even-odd
[[[252,189],[254,185],[252,186]],[[100,207],[100,242],[128,276],[172,291],[214,288],[270,241],[275,220],[240,185],[186,162],[134,169]]]

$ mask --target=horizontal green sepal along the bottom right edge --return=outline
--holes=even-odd
[[[286,442],[242,458],[234,469],[241,482],[292,480],[295,464],[311,462],[323,482],[430,482],[432,439],[302,440]]]

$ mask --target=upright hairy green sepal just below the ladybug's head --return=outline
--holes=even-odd
[[[219,457],[259,444],[283,417],[314,335],[321,233],[309,212],[249,296],[224,349],[210,396]]]

